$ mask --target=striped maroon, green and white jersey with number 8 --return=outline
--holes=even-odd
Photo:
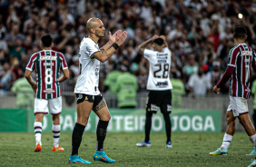
[[[25,69],[36,72],[35,98],[54,99],[61,96],[58,78],[60,70],[67,69],[64,54],[53,50],[34,53]]]

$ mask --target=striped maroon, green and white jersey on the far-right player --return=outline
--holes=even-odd
[[[247,44],[238,44],[231,48],[228,65],[235,67],[231,75],[230,95],[235,97],[250,97],[251,65],[256,64],[255,52]]]

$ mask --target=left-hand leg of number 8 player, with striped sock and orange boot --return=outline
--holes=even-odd
[[[41,152],[42,150],[42,121],[44,118],[44,113],[35,113],[34,119],[34,138],[35,138],[35,149],[34,152]]]

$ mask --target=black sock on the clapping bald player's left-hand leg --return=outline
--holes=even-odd
[[[85,126],[79,123],[74,124],[74,130],[72,133],[72,149],[71,155],[78,155],[78,149],[80,147],[82,136],[84,134]]]

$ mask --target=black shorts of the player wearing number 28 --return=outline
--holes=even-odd
[[[166,91],[150,91],[146,104],[146,111],[156,113],[158,110],[162,113],[172,113],[172,92]]]

